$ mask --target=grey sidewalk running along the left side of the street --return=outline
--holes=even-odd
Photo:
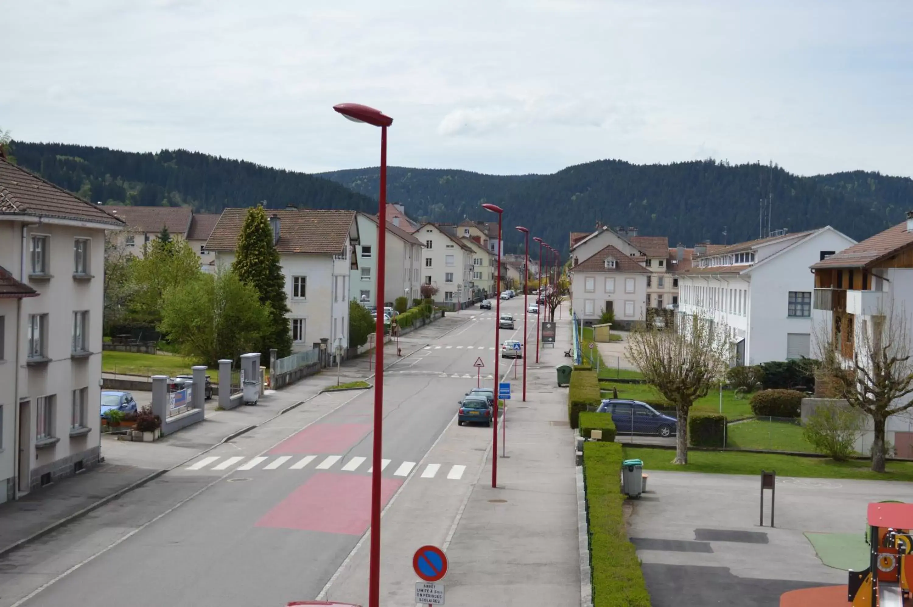
[[[420,350],[430,339],[452,330],[463,319],[449,317],[415,330],[400,340],[403,355]],[[398,360],[396,341],[385,344],[384,368]],[[154,443],[118,441],[102,434],[104,463],[78,476],[38,489],[22,499],[0,504],[0,555],[66,525],[90,510],[141,487],[175,466],[219,445],[237,434],[310,400],[321,390],[341,383],[369,379],[368,358],[345,361],[339,369],[328,368],[278,391],[267,391],[255,406],[215,411],[217,399],[206,403],[205,420],[163,437]],[[370,382],[370,379],[369,379]]]

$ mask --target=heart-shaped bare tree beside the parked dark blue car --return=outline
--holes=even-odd
[[[676,458],[687,464],[687,416],[698,398],[724,376],[731,354],[729,338],[708,319],[684,317],[675,330],[646,324],[628,336],[627,358],[676,405]]]

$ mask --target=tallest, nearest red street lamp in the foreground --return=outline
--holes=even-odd
[[[340,103],[333,110],[353,122],[366,122],[381,127],[381,193],[377,210],[377,291],[374,301],[378,305],[374,335],[377,345],[376,379],[374,380],[374,445],[371,476],[371,564],[368,579],[368,606],[380,607],[381,602],[381,449],[383,447],[383,279],[384,253],[386,252],[387,225],[387,127],[394,119],[381,110],[374,110],[360,103]]]

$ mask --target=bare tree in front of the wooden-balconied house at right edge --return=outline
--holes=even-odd
[[[834,323],[815,330],[822,369],[839,398],[872,418],[872,470],[885,471],[885,425],[891,415],[913,407],[908,315],[881,310],[854,326],[849,315],[834,313]]]

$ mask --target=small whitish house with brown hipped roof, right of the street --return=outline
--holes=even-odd
[[[583,324],[614,314],[614,327],[631,330],[646,318],[646,279],[651,272],[612,245],[571,267],[571,306]]]

